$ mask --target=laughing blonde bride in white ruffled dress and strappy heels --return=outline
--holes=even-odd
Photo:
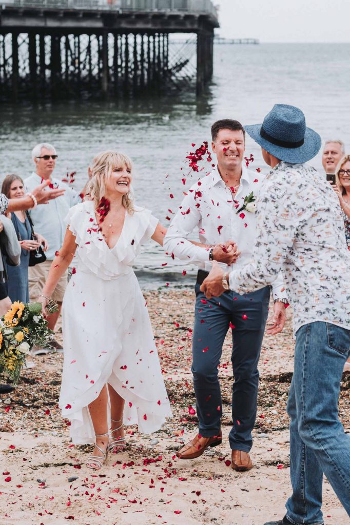
[[[132,264],[150,238],[163,245],[166,228],[133,204],[131,161],[96,156],[87,193],[70,208],[63,246],[40,296],[46,304],[74,255],[63,302],[64,365],[59,406],[73,443],[94,443],[87,467],[98,470],[108,451],[125,447],[123,425],[158,430],[171,409],[145,299]],[[111,426],[108,433],[109,422]]]

